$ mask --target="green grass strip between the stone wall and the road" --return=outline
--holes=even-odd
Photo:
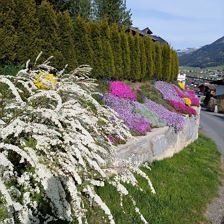
[[[220,167],[216,145],[200,135],[195,143],[174,157],[153,162],[151,171],[142,168],[156,189],[155,195],[139,176],[144,192],[131,185],[126,184],[126,187],[149,223],[207,223],[203,214],[207,204],[217,195],[222,177]],[[97,188],[97,192],[111,209],[116,223],[141,223],[128,197],[124,198],[124,213],[113,186],[107,184]]]

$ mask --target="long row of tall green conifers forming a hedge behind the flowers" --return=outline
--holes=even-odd
[[[2,0],[0,63],[4,67],[28,59],[34,61],[43,51],[44,59],[54,56],[53,65],[59,69],[66,64],[70,70],[89,64],[95,78],[176,79],[178,58],[169,45],[127,34],[124,26],[118,26],[123,24],[124,15],[118,19],[117,13],[127,12],[123,1],[95,1],[96,7],[110,9],[110,14],[100,22],[87,22],[83,19],[86,16],[76,16],[81,15],[80,7],[82,4],[87,7],[88,1]],[[69,12],[61,12],[66,9],[74,11],[74,21]]]

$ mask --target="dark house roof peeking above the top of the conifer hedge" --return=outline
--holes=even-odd
[[[162,37],[152,35],[153,32],[148,27],[146,27],[143,30],[140,30],[138,27],[130,27],[126,30],[126,32],[132,33],[133,36],[135,36],[136,34],[139,34],[140,36],[150,37],[153,42],[159,42],[161,44],[168,44],[168,42],[165,41]]]

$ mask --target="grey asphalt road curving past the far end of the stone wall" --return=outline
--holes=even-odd
[[[224,156],[224,114],[201,111],[201,130],[212,138]]]

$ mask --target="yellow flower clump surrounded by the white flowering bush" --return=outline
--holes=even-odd
[[[57,85],[57,79],[53,74],[44,74],[40,72],[36,75],[33,83],[38,89],[49,90],[55,89]]]

